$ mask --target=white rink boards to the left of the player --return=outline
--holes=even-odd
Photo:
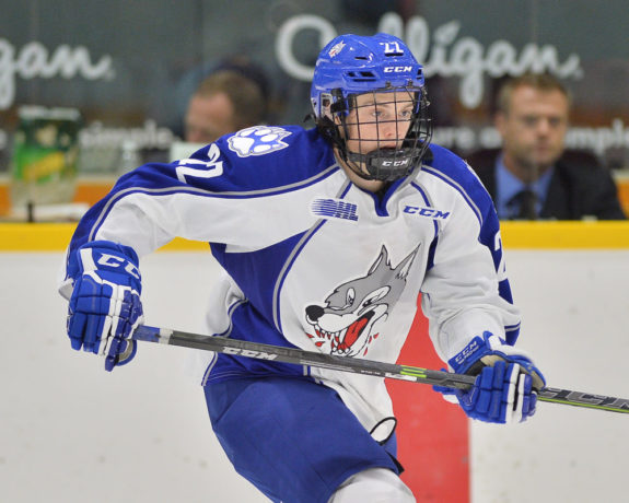
[[[0,501],[267,502],[220,449],[186,349],[145,343],[110,374],[70,349],[61,260],[0,254]],[[148,323],[199,329],[212,271],[209,256],[148,257]]]

